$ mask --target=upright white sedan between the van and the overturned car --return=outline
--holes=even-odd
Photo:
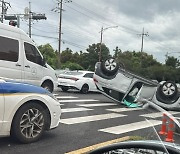
[[[58,75],[58,86],[62,91],[77,89],[84,94],[89,91],[97,91],[93,75],[94,72],[91,71],[67,71]]]

